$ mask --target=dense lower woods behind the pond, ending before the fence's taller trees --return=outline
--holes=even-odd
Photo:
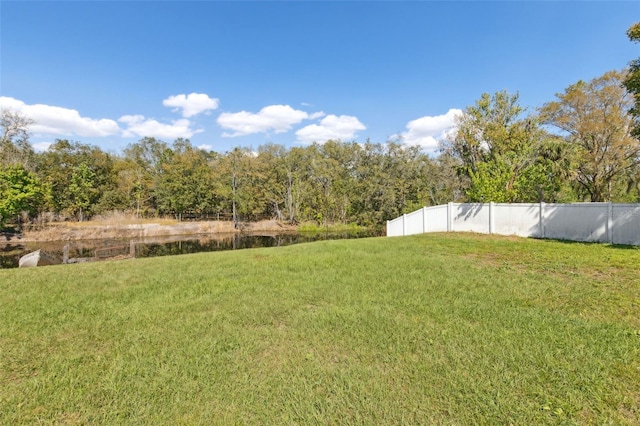
[[[398,143],[269,144],[219,154],[186,139],[169,145],[143,138],[114,155],[57,140],[46,152],[20,154],[22,161],[0,169],[6,218],[53,212],[83,220],[119,210],[178,219],[376,224],[421,205],[429,191],[433,202],[449,198],[429,186],[437,163]]]

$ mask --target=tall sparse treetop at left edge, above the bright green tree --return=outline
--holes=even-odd
[[[0,110],[0,166],[21,165],[33,169],[35,152],[29,144],[33,120],[10,110]]]

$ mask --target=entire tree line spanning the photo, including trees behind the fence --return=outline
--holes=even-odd
[[[640,41],[640,23],[628,35]],[[152,137],[118,154],[66,139],[37,153],[31,121],[3,110],[0,225],[117,210],[370,226],[449,201],[639,202],[639,117],[640,58],[532,112],[517,93],[482,94],[431,156],[400,139],[217,153]]]

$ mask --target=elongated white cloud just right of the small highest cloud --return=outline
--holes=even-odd
[[[258,113],[240,111],[235,113],[224,112],[218,117],[218,124],[223,129],[233,130],[233,133],[225,132],[224,137],[236,137],[253,133],[284,133],[291,130],[291,126],[302,120],[322,117],[324,112],[308,114],[304,111],[291,108],[289,105],[269,105]]]

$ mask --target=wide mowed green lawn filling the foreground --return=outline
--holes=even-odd
[[[638,424],[639,281],[473,234],[0,270],[0,424]]]

